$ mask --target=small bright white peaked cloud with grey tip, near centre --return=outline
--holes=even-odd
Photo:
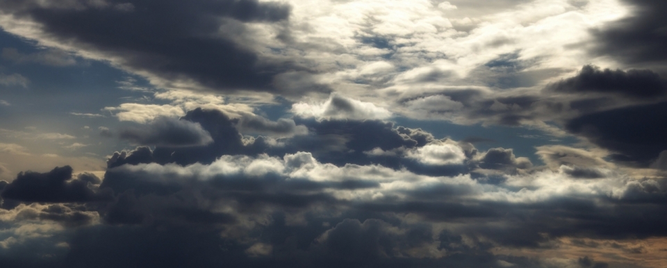
[[[377,107],[373,103],[348,99],[338,94],[331,94],[324,103],[295,103],[292,112],[301,117],[318,119],[387,119],[391,112]]]

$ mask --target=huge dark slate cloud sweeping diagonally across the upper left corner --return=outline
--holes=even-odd
[[[276,74],[294,68],[263,62],[246,49],[248,44],[231,40],[231,35],[249,34],[245,22],[272,24],[288,19],[290,7],[283,3],[3,1],[0,10],[39,24],[45,38],[115,58],[114,63],[124,69],[167,83],[191,81],[215,90],[271,90]]]

